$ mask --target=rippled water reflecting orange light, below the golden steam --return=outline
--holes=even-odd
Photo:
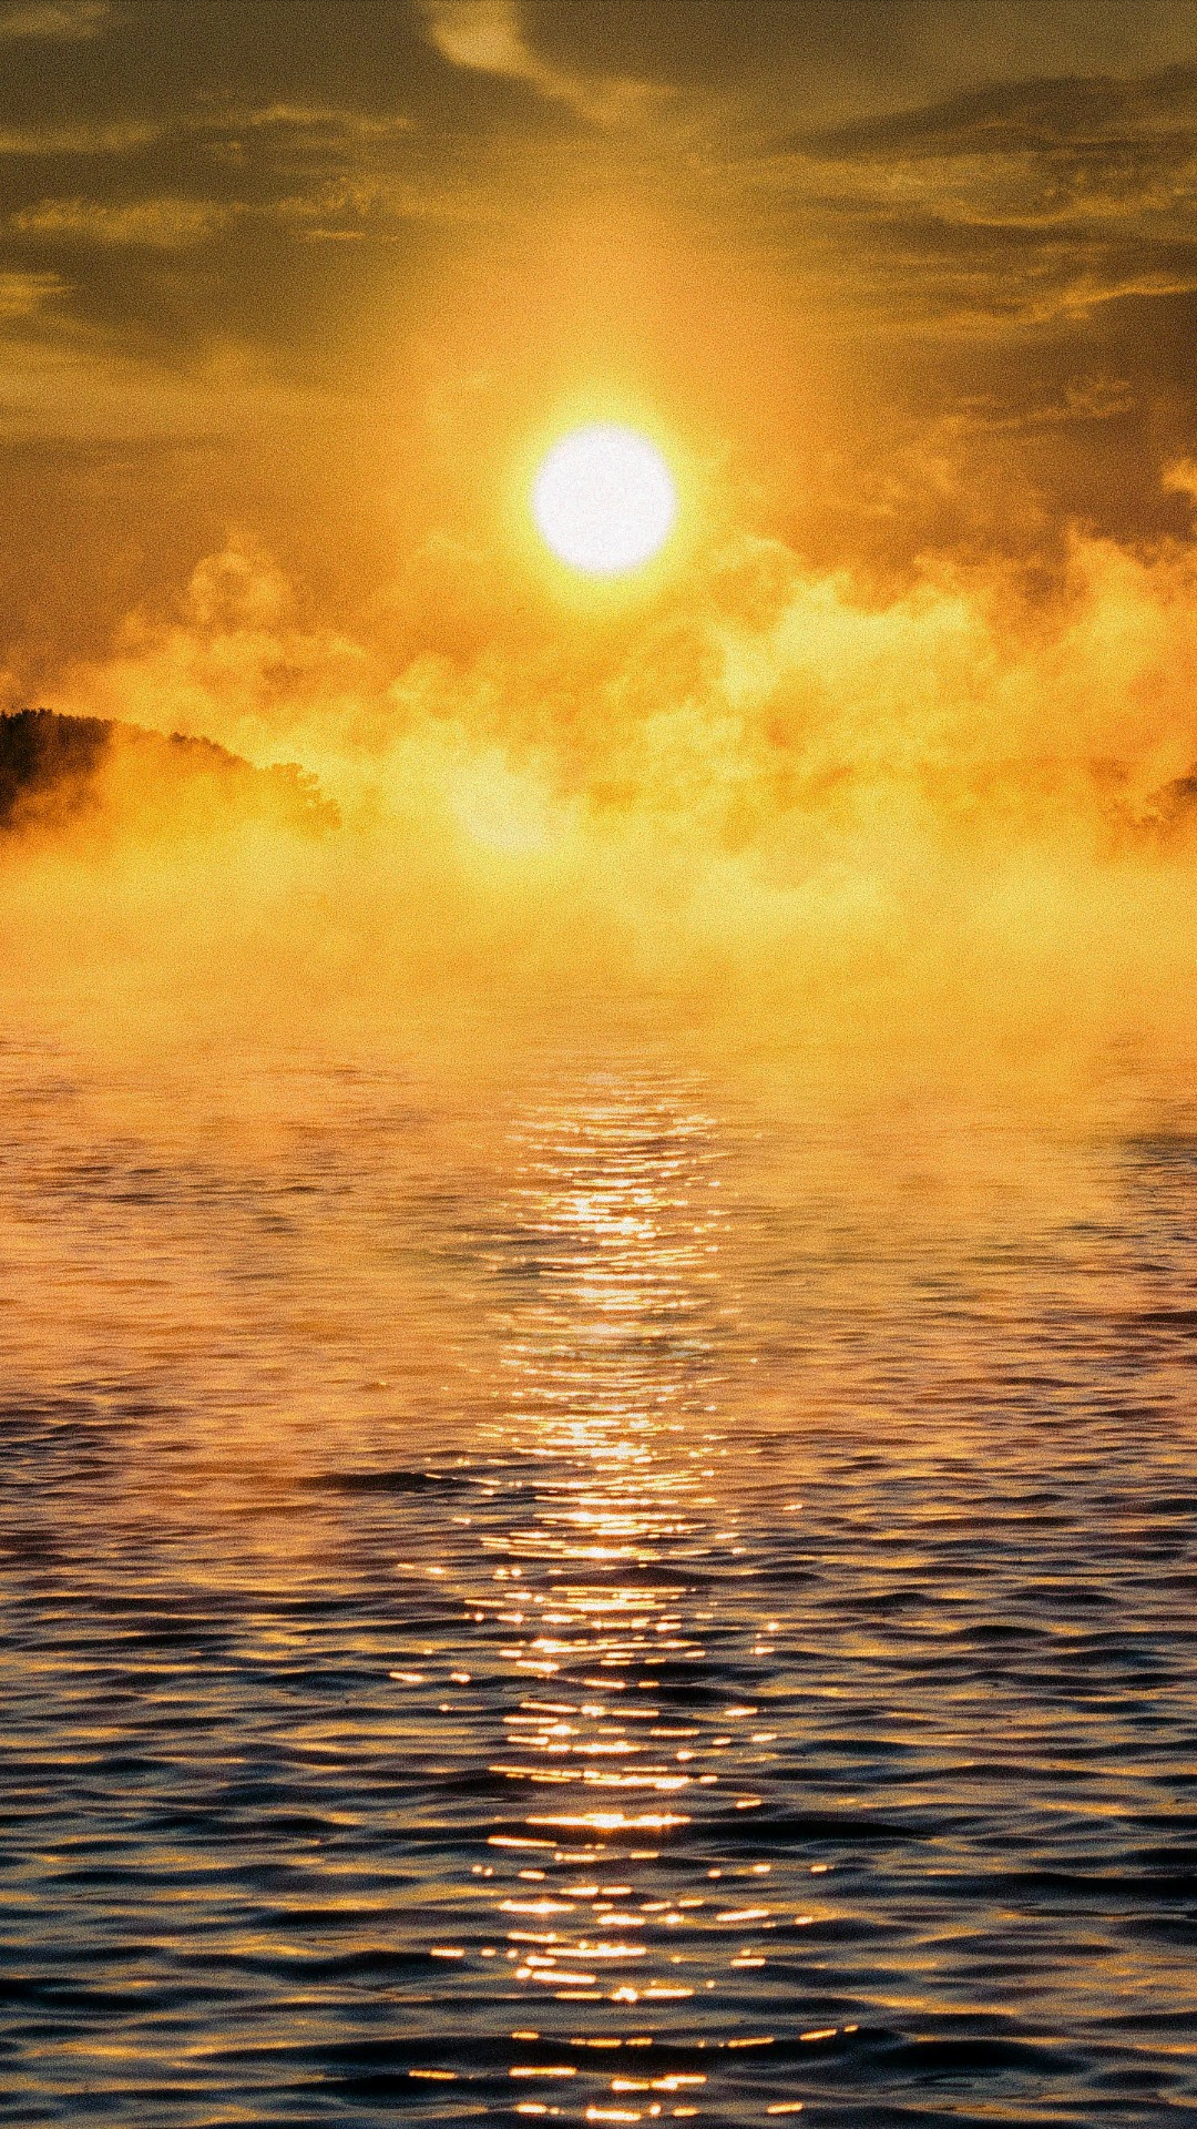
[[[1197,1126],[2,1054],[19,2123],[1197,2110]]]

